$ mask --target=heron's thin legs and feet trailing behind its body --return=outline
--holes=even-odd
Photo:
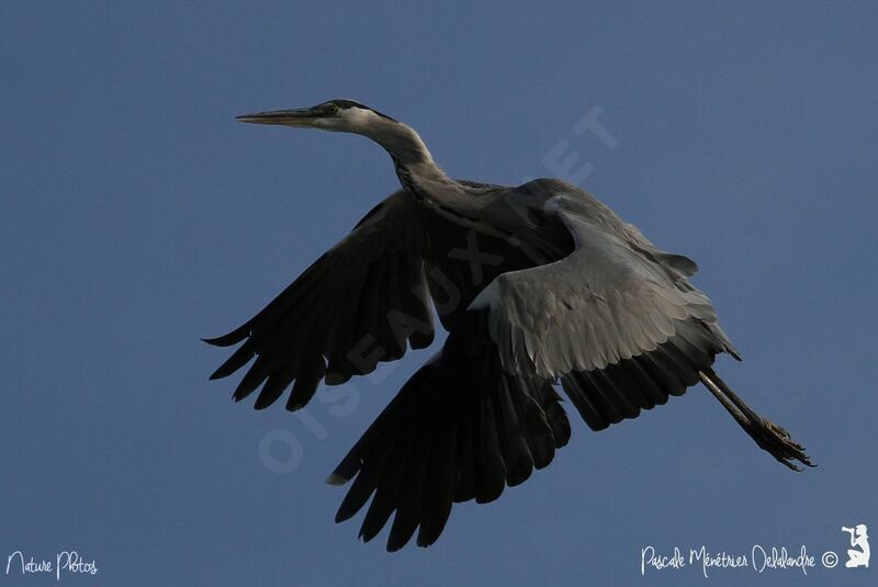
[[[804,453],[804,447],[793,441],[785,428],[753,411],[712,369],[705,369],[698,375],[713,397],[759,448],[793,471],[801,471],[796,461],[806,466],[817,466]]]

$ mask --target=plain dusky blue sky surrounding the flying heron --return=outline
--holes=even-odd
[[[844,562],[842,526],[878,537],[878,10],[532,4],[0,5],[0,561],[77,550],[100,569],[81,585],[875,585],[878,563],[820,557]],[[324,478],[429,351],[297,416],[234,404],[199,340],[396,188],[361,137],[234,122],[331,98],[412,124],[459,178],[576,154],[587,190],[699,262],[744,355],[718,370],[819,469],[787,471],[700,387],[599,434],[567,405],[552,465],[455,506],[435,546],[358,542]],[[574,131],[596,106],[616,148]],[[818,566],[640,576],[644,546],[702,544]]]

